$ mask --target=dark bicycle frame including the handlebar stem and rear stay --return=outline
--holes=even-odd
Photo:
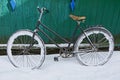
[[[40,12],[41,14],[40,14],[40,17],[39,17],[39,19],[38,19],[38,21],[37,21],[37,25],[36,25],[36,28],[35,28],[34,33],[33,33],[33,39],[34,39],[34,36],[35,36],[36,33],[41,32],[41,33],[44,34],[50,41],[52,41],[53,44],[55,44],[59,49],[62,49],[62,47],[60,47],[60,46],[58,45],[58,43],[56,43],[55,40],[53,40],[46,32],[44,32],[44,31],[40,28],[40,26],[42,26],[44,29],[48,30],[49,32],[51,32],[52,34],[54,34],[55,36],[57,36],[58,38],[60,38],[60,39],[63,40],[64,42],[68,43],[68,46],[67,46],[66,48],[69,50],[69,48],[71,47],[71,44],[72,44],[72,43],[73,43],[73,47],[74,47],[74,43],[75,43],[75,42],[74,42],[74,36],[76,36],[77,30],[80,29],[81,32],[87,37],[88,43],[89,43],[94,49],[96,49],[95,46],[93,45],[93,43],[91,42],[91,40],[89,39],[89,37],[86,35],[85,31],[84,31],[84,30],[82,29],[82,27],[80,26],[80,23],[83,22],[83,21],[77,21],[77,26],[75,27],[75,30],[73,31],[72,38],[71,38],[70,41],[68,41],[68,40],[66,40],[65,38],[63,38],[62,36],[60,36],[58,33],[56,33],[54,30],[50,29],[49,27],[47,27],[45,24],[43,24],[43,23],[41,22],[41,18],[42,18],[43,12],[44,12],[44,10],[46,10],[46,8],[41,8],[41,9],[38,8],[38,10],[39,10],[39,12]],[[84,26],[86,26],[86,25],[84,24]],[[32,45],[34,45],[34,43],[32,43],[30,46],[32,46]]]

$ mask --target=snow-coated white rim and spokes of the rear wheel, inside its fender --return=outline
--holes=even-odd
[[[78,46],[86,44],[88,48],[77,47],[77,51],[82,51],[77,54],[79,61],[84,65],[102,65],[105,64],[113,52],[112,39],[102,31],[89,31],[86,35],[90,38],[92,43],[96,46],[97,50],[94,50],[88,43],[86,43],[85,36],[82,35],[81,40],[78,41]]]

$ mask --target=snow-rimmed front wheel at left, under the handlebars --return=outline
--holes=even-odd
[[[8,40],[7,54],[17,68],[39,68],[45,59],[46,49],[42,39],[30,30],[20,30]]]

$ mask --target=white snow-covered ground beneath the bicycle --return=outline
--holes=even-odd
[[[47,55],[39,70],[16,69],[7,56],[0,56],[0,80],[120,80],[120,51],[103,66],[82,66],[76,58],[54,62]]]

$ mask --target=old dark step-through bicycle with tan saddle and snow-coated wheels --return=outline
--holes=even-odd
[[[78,62],[82,65],[98,66],[105,64],[111,58],[114,50],[114,39],[112,34],[104,27],[97,26],[83,30],[80,24],[84,23],[86,17],[70,15],[70,17],[77,22],[77,26],[73,31],[71,40],[68,41],[41,22],[42,16],[48,13],[48,10],[45,7],[37,7],[37,9],[40,15],[34,31],[28,29],[19,30],[8,40],[8,58],[15,67],[39,69],[42,66],[45,60],[46,47],[44,41],[38,35],[39,32],[44,34],[59,48],[60,56],[54,57],[55,61],[58,61],[58,57],[77,57]],[[67,47],[61,47],[54,39],[44,32],[41,27],[62,39],[67,43]],[[82,34],[74,40],[76,30],[78,29],[80,29]]]

